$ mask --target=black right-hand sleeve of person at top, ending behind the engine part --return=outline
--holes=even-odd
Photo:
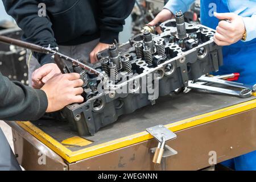
[[[119,32],[123,30],[125,19],[131,14],[135,0],[99,0],[101,16],[101,43],[112,44],[118,40]]]

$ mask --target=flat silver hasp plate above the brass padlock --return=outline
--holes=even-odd
[[[171,130],[167,129],[163,125],[157,125],[146,129],[148,133],[150,133],[158,142],[162,143],[162,137],[165,138],[166,141],[177,138],[177,135],[173,133]]]

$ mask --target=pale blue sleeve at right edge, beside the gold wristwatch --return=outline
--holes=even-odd
[[[247,32],[246,42],[256,38],[256,13],[251,17],[243,17],[243,23]]]

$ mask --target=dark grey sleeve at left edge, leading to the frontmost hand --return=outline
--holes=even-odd
[[[12,82],[0,73],[0,119],[6,121],[35,121],[48,106],[43,90]]]

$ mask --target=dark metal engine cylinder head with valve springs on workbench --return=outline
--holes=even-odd
[[[187,87],[189,80],[218,71],[222,48],[213,42],[214,30],[184,23],[182,18],[178,24],[185,30],[177,30],[176,21],[168,20],[160,24],[160,35],[147,32],[145,39],[141,33],[98,53],[101,61],[93,68],[107,76],[85,71],[89,86],[84,88],[84,103],[61,111],[72,129],[81,136],[93,135],[120,115],[154,104],[158,97]]]

